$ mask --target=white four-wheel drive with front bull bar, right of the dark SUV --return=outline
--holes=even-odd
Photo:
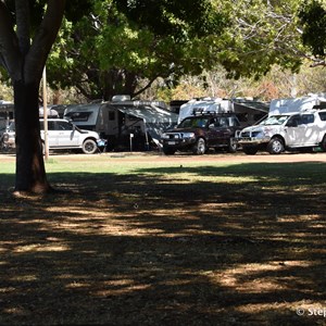
[[[269,115],[258,125],[237,133],[237,141],[246,154],[265,150],[279,154],[285,150],[326,151],[326,110]]]

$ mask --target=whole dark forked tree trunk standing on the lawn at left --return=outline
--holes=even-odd
[[[39,127],[38,89],[42,71],[55,40],[65,0],[45,1],[42,17],[30,20],[37,1],[15,0],[15,13],[0,1],[0,59],[14,87],[16,125],[15,191],[47,192],[51,189],[42,158]],[[37,15],[36,15],[37,16]],[[32,33],[36,32],[35,34]]]

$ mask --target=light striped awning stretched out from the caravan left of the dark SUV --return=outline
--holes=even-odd
[[[120,104],[113,106],[125,114],[141,118],[145,123],[146,131],[154,141],[159,141],[161,135],[166,129],[176,125],[178,120],[176,113],[154,105],[125,106]]]

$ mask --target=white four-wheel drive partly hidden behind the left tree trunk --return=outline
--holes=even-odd
[[[41,138],[45,139],[43,120],[40,120]],[[3,146],[15,147],[15,123],[12,121],[2,136]],[[99,147],[105,146],[96,131],[79,129],[74,124],[62,118],[48,120],[49,149],[82,149],[86,154],[95,153]]]

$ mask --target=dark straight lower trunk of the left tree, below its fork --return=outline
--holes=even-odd
[[[16,179],[15,191],[42,193],[47,180],[38,111],[39,83],[14,83]]]

